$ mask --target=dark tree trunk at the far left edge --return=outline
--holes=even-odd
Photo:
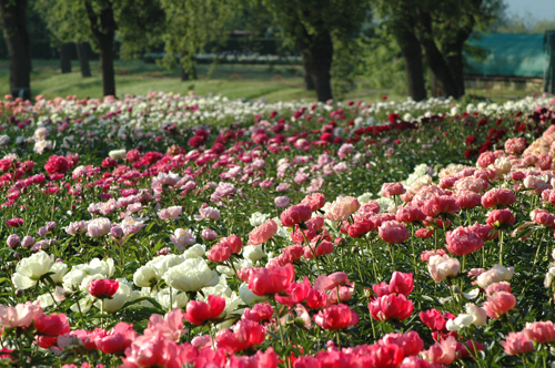
[[[27,0],[0,0],[13,98],[31,99],[31,47],[26,27]]]

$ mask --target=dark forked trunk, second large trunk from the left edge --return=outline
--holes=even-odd
[[[115,73],[113,70],[113,41],[118,24],[113,18],[111,4],[103,8],[100,14],[94,12],[89,1],[84,3],[87,16],[91,23],[91,31],[100,53],[100,68],[102,69],[102,90],[104,95],[115,96]],[[100,18],[100,22],[99,22]]]

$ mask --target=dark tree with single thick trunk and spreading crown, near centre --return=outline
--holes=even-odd
[[[369,11],[366,0],[260,0],[275,25],[301,52],[306,89],[319,101],[332,99],[330,70],[334,40],[356,33]]]

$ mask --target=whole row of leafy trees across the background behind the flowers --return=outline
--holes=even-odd
[[[502,0],[0,0],[10,89],[26,98],[30,33],[44,30],[59,50],[62,72],[71,71],[69,55],[77,47],[82,75],[90,75],[92,47],[104,95],[115,95],[117,54],[164,51],[163,64],[180,68],[182,80],[195,79],[194,55],[240,30],[251,40],[279,38],[282,49],[301,54],[304,85],[319,101],[337,91],[332,76],[345,85],[356,75],[406,81],[417,101],[430,85],[461,98],[463,51],[472,54],[466,41],[475,30],[502,28],[504,10]]]

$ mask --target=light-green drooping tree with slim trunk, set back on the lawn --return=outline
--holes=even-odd
[[[162,35],[167,57],[163,62],[174,67],[179,60],[181,80],[196,79],[194,55],[209,43],[225,41],[225,22],[233,17],[233,0],[161,0],[165,11]]]

